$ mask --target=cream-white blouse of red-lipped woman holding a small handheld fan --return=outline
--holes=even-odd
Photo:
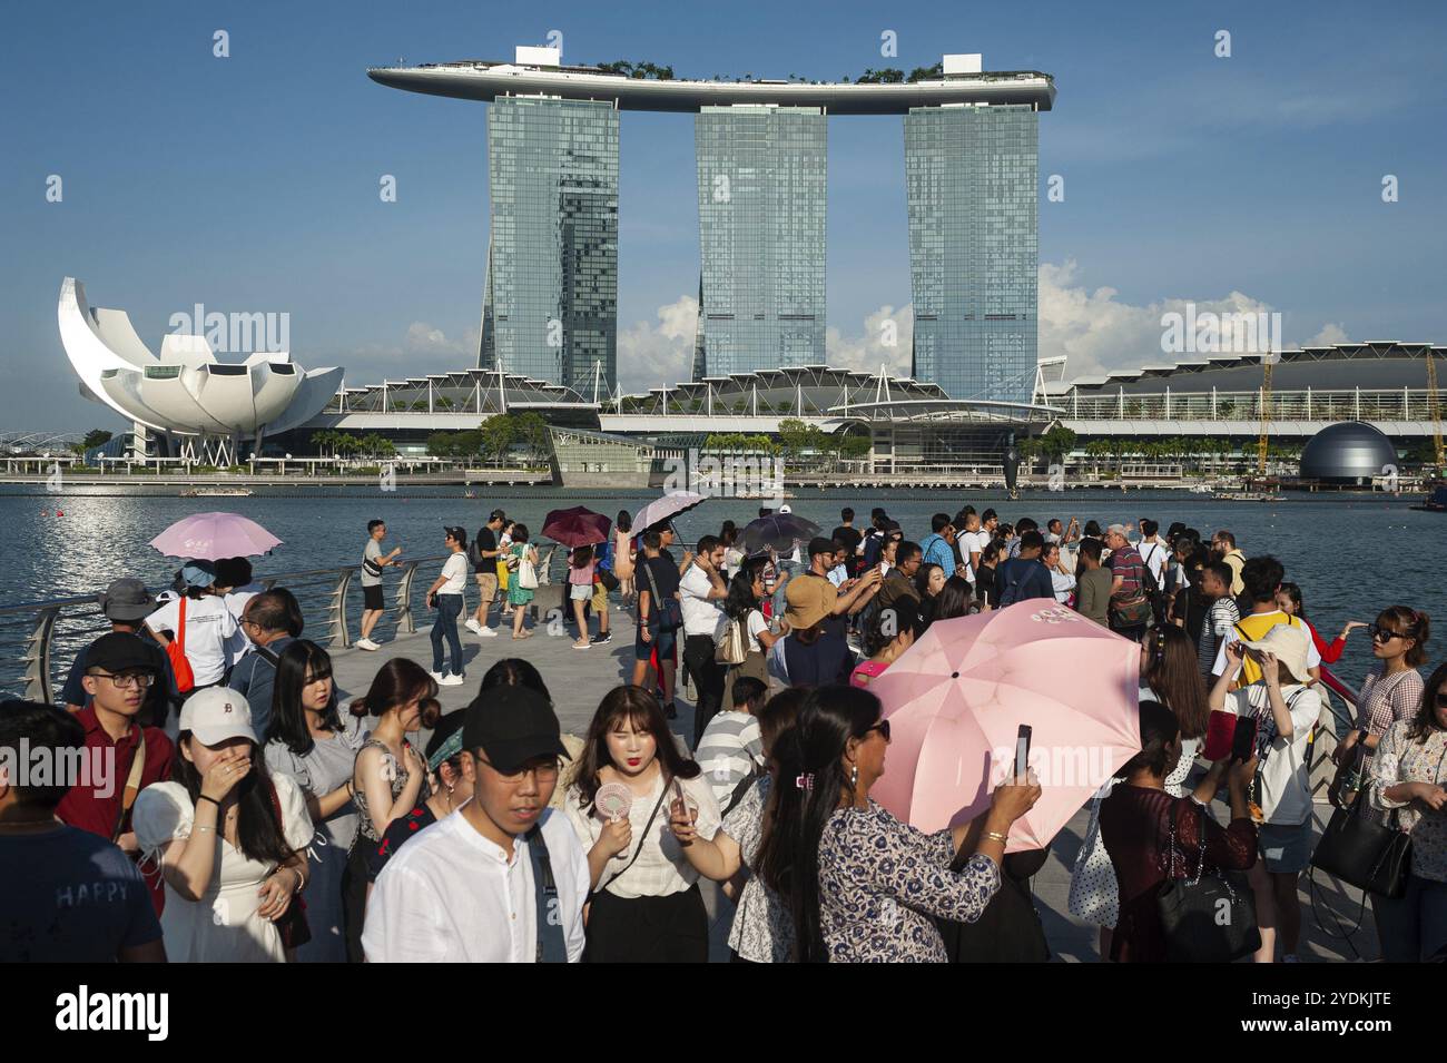
[[[708,775],[679,780],[679,784],[683,787],[683,793],[699,806],[699,819],[696,823],[699,837],[712,842],[713,834],[718,833],[721,817],[719,804],[713,798],[713,788],[709,785]],[[628,861],[640,850],[640,846],[642,846],[642,850],[638,852],[638,859],[628,868],[628,872],[619,875],[616,882],[606,887],[608,892],[614,897],[624,900],[670,897],[682,894],[699,881],[699,872],[693,869],[689,858],[683,855],[683,848],[669,826],[669,804],[673,800],[671,785],[669,787],[669,795],[663,798],[658,814],[653,820],[653,829],[647,837],[642,836],[644,827],[648,826],[648,814],[653,811],[661,793],[663,771],[658,772],[658,778],[647,795],[634,795],[632,807],[628,808],[628,823],[632,824],[632,843],[624,852],[614,856],[614,859],[608,861],[598,885],[603,887],[608,879],[624,868],[628,868]],[[576,785],[569,787],[563,795],[563,810],[567,813],[569,823],[573,824],[577,840],[583,843],[583,852],[590,850],[598,843],[599,834],[603,833],[603,821],[598,817],[596,811],[589,810],[590,814],[585,816],[583,810],[577,807]],[[407,852],[407,849],[402,849],[402,852]]]

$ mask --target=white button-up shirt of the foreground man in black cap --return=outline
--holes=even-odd
[[[557,884],[569,963],[583,956],[587,855],[554,808],[538,820]],[[532,963],[537,904],[528,843],[512,859],[457,810],[408,840],[386,862],[366,902],[362,949],[369,963]]]

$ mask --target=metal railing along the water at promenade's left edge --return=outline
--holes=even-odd
[[[540,584],[561,583],[559,577],[566,574],[567,550],[556,544],[535,545]],[[427,587],[446,560],[446,555],[438,554],[396,561],[385,570],[388,610],[378,623],[379,633],[391,631],[398,636],[417,632],[417,613],[425,612],[423,599]],[[467,568],[469,579],[463,593],[469,606],[476,607],[478,584],[472,580],[472,565]],[[392,576],[392,571],[399,576]],[[344,649],[355,642],[353,632],[362,622],[362,594],[353,590],[359,581],[357,573],[359,565],[353,563],[330,568],[258,573],[255,581],[268,590],[285,587],[295,594],[307,619],[305,636],[334,649]],[[543,593],[534,605],[543,607],[550,600],[551,596]],[[109,631],[110,623],[101,615],[96,594],[0,607],[0,694],[58,703],[75,655]]]

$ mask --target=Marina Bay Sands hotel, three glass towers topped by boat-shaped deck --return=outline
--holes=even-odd
[[[823,366],[826,123],[904,116],[912,376],[952,399],[1029,404],[1036,383],[1037,117],[1048,74],[946,55],[897,82],[686,81],[514,62],[369,69],[491,103],[479,369],[612,395],[618,376],[619,111],[686,111],[697,158],[693,379]]]

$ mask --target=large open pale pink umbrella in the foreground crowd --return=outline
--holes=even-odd
[[[920,830],[969,820],[1027,723],[1043,794],[1006,849],[1039,849],[1140,752],[1139,675],[1139,645],[1048,599],[936,620],[870,684],[891,729],[871,795]]]

